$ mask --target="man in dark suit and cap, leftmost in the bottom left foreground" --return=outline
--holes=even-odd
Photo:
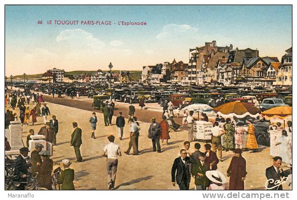
[[[27,177],[29,176],[29,166],[26,162],[26,157],[28,156],[29,149],[28,147],[20,148],[20,155],[17,156],[16,163],[15,163],[15,175],[17,176],[17,181],[19,182],[26,182]],[[25,183],[21,183],[17,189],[24,190]]]

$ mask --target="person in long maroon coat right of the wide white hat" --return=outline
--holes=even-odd
[[[227,176],[230,176],[229,190],[243,190],[244,180],[246,177],[246,162],[241,156],[242,150],[234,150],[235,155],[232,157],[230,166],[227,170]]]

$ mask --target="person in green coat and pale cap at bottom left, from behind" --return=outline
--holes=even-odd
[[[69,166],[71,162],[69,159],[63,159],[62,161],[64,170],[59,176],[59,184],[62,184],[61,190],[75,190],[73,180],[74,180],[74,170],[70,169]]]

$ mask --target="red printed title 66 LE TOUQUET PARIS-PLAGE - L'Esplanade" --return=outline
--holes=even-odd
[[[38,21],[42,24],[42,20]],[[117,21],[110,20],[47,20],[49,25],[120,25],[120,26],[145,26],[144,21]]]

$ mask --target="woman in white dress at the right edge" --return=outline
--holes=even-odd
[[[286,164],[292,164],[292,140],[288,137],[287,131],[282,131],[282,136],[276,140],[275,146],[280,146],[280,155],[282,161]]]

